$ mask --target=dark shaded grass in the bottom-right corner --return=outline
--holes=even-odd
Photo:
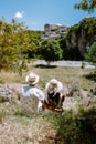
[[[96,110],[84,113],[82,117],[63,115],[55,144],[96,144]]]

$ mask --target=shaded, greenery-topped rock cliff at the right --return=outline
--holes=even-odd
[[[73,25],[66,37],[66,48],[77,48],[84,56],[87,49],[95,42],[96,19],[85,18],[78,24]]]

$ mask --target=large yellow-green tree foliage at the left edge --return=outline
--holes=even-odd
[[[25,59],[34,52],[41,32],[28,30],[24,23],[12,19],[7,23],[0,20],[0,70],[21,71],[25,69]]]

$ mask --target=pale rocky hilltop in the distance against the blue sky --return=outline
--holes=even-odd
[[[46,23],[44,25],[44,34],[41,35],[41,40],[45,40],[45,39],[56,40],[61,38],[67,30],[68,27],[62,24]]]

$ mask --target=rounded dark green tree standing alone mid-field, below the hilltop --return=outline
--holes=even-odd
[[[57,41],[45,40],[41,42],[40,47],[38,48],[38,53],[47,62],[47,64],[50,64],[51,61],[61,60],[63,51]]]

